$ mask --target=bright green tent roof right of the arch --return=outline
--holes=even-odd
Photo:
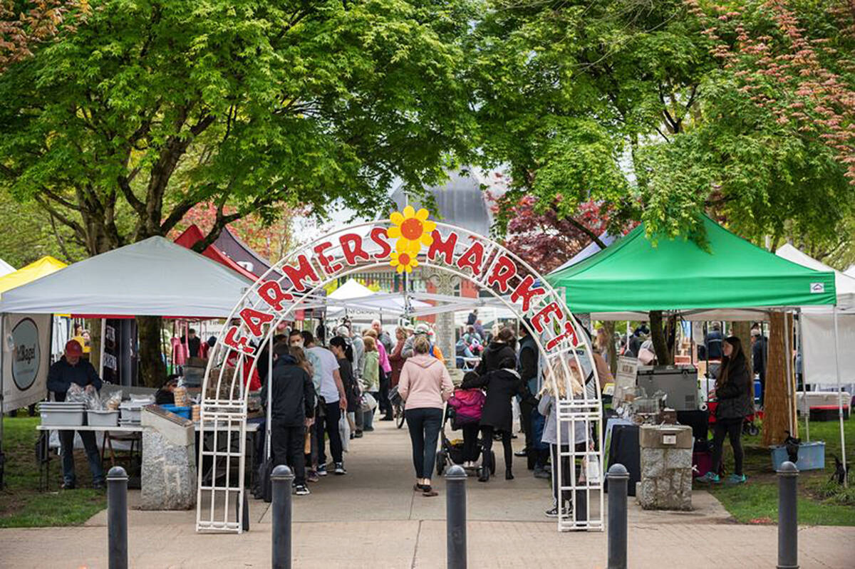
[[[834,304],[834,273],[781,259],[708,217],[701,222],[706,248],[684,238],[659,238],[654,247],[642,224],[546,279],[578,313]]]

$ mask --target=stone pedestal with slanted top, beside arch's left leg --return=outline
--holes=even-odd
[[[195,430],[192,421],[151,405],[141,415],[143,472],[140,507],[188,510],[196,505]]]

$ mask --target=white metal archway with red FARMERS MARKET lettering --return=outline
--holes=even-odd
[[[582,330],[578,320],[575,320],[563,302],[561,291],[552,289],[528,263],[489,238],[460,227],[434,223],[434,242],[439,239],[439,243],[445,243],[445,249],[439,255],[433,256],[428,256],[433,247],[428,248],[428,251],[420,251],[417,256],[420,267],[432,267],[450,272],[460,279],[475,282],[481,290],[487,290],[498,298],[523,323],[527,318],[534,318],[534,325],[529,331],[532,332],[540,350],[545,374],[559,380],[553,384],[557,395],[557,419],[559,427],[562,427],[557,430],[558,443],[559,449],[565,449],[562,452],[563,458],[569,460],[571,465],[570,472],[564,472],[565,460],[557,460],[557,465],[553,467],[558,469],[559,480],[569,478],[569,484],[562,484],[561,494],[573,493],[574,502],[577,504],[575,513],[571,514],[563,507],[563,501],[559,500],[558,529],[602,531],[602,406],[599,398],[599,378],[587,332]],[[221,332],[219,341],[209,357],[203,381],[200,431],[210,432],[209,439],[212,441],[209,441],[211,444],[208,449],[204,435],[200,436],[197,531],[242,531],[243,525],[236,512],[241,512],[245,503],[245,433],[249,394],[245,390],[244,378],[251,377],[256,371],[259,365],[259,358],[256,356],[260,354],[261,347],[272,341],[280,322],[294,320],[297,310],[322,301],[317,292],[331,281],[373,268],[389,267],[392,247],[387,237],[387,229],[391,225],[388,220],[380,220],[345,227],[292,251],[246,290],[233,308],[229,323],[232,323],[238,314],[242,314],[242,318],[235,326],[226,326]],[[355,233],[357,230],[363,232]],[[447,247],[449,241],[454,243],[451,253]],[[370,249],[363,247],[366,242],[372,243]],[[474,243],[479,243],[481,255],[472,255],[478,257],[478,262],[467,263],[469,270],[464,270],[460,265],[461,259],[471,249],[477,251]],[[360,255],[354,255],[355,244],[358,245]],[[363,258],[366,254],[368,259]],[[442,261],[444,255],[445,261],[451,256],[451,263]],[[298,278],[298,283],[287,279],[288,273],[294,272],[295,264],[303,267],[304,273],[314,277],[307,279],[310,285],[304,285],[303,279]],[[510,277],[507,277],[508,272],[503,273],[503,268],[507,267],[514,269]],[[506,278],[492,279],[497,275],[504,275]],[[500,294],[500,291],[506,293],[510,290],[511,283],[516,283],[515,290],[530,291],[531,280],[534,280],[536,289],[541,290],[540,293],[522,296],[517,298],[516,302],[510,302]],[[522,288],[525,285],[523,281],[528,283],[528,288]],[[265,287],[265,294],[261,294]],[[271,289],[274,294],[270,293]],[[285,295],[289,295],[287,303],[281,300]],[[271,302],[271,296],[274,296],[274,300],[280,299],[280,302]],[[519,302],[520,300],[523,302]],[[258,320],[253,320],[251,317],[246,318],[244,314],[261,316],[258,316]],[[255,344],[253,349],[251,343]],[[268,350],[269,353],[272,353],[272,350]],[[261,365],[264,364],[268,365],[270,378],[272,358],[261,362]],[[574,369],[590,372],[587,375],[584,372],[574,372]],[[574,381],[573,378],[581,381]],[[584,387],[586,383],[588,389]],[[576,424],[585,426],[588,437],[594,433],[593,442],[583,442],[585,444],[578,445],[578,449],[573,428]],[[563,441],[565,427],[569,427],[569,441]],[[266,451],[269,452],[269,421],[267,428]],[[235,433],[237,437],[233,437]],[[232,459],[236,459],[238,464],[234,465]],[[587,465],[587,468],[576,472],[577,468],[573,465],[579,461]],[[209,470],[206,468],[208,463]],[[235,476],[232,475],[233,466],[237,466]],[[224,484],[220,484],[223,478]],[[591,496],[592,494],[594,496]],[[598,507],[591,507],[591,498],[595,498]],[[232,499],[237,502],[234,509]],[[585,507],[582,512],[583,500]]]

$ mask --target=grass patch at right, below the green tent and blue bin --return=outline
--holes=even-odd
[[[845,423],[846,460],[855,460],[855,419]],[[799,424],[799,436],[805,436],[805,423]],[[855,489],[828,483],[834,472],[834,458],[840,456],[840,424],[834,421],[812,422],[811,441],[825,442],[825,470],[805,471],[799,474],[799,524],[805,525],[855,525]],[[743,524],[769,524],[778,520],[778,483],[772,470],[769,449],[762,446],[760,436],[743,437],[746,451],[746,484],[704,484],[711,486],[713,496],[722,502],[734,518]],[[724,443],[724,466],[733,472],[733,450]],[[850,472],[852,472],[850,466]],[[855,485],[855,476],[849,477]],[[696,487],[701,487],[696,484]]]

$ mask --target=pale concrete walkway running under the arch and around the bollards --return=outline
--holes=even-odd
[[[294,496],[295,567],[445,566],[445,496],[412,491],[406,427],[376,422],[377,431],[351,442],[347,476],[333,475]],[[449,433],[456,437],[456,433]],[[522,440],[515,442],[522,445]],[[500,447],[500,445],[499,445]],[[499,449],[496,449],[499,450]],[[499,451],[497,453],[501,455]],[[498,472],[504,472],[501,458]],[[548,481],[516,461],[516,479],[494,478],[468,490],[469,566],[605,566],[604,533],[558,533],[543,512]],[[138,493],[132,492],[133,508]],[[777,528],[736,525],[708,493],[696,491],[691,513],[629,513],[632,567],[775,567]],[[630,503],[633,503],[630,498]],[[266,567],[270,565],[269,505],[251,500],[251,530],[241,536],[197,534],[196,512],[128,513],[134,567]],[[84,527],[0,530],[0,566],[104,567],[106,513]],[[851,567],[855,528],[809,527],[799,532],[802,567]]]

